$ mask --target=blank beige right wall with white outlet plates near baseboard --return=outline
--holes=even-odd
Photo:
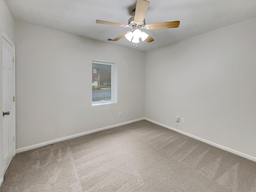
[[[256,18],[146,52],[145,117],[256,157]]]

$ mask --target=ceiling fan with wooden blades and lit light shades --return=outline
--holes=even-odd
[[[136,44],[140,42],[139,40],[140,38],[142,41],[146,40],[146,42],[148,43],[154,41],[152,37],[150,37],[144,31],[141,31],[141,29],[151,30],[151,29],[163,29],[163,28],[176,28],[180,25],[180,21],[146,24],[145,16],[148,11],[148,7],[149,7],[148,1],[137,0],[136,8],[132,10],[132,13],[134,14],[134,16],[128,20],[128,25],[102,21],[102,20],[96,20],[96,23],[131,28],[132,31],[125,32],[124,34],[118,36],[112,41],[118,41],[121,38],[125,37],[128,41],[132,41],[133,43],[136,43]]]

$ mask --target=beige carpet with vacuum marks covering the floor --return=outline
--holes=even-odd
[[[256,192],[256,162],[142,120],[17,154],[0,192]]]

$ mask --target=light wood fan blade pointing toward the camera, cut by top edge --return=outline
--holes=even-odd
[[[134,21],[136,24],[142,24],[148,11],[149,2],[145,0],[137,0]]]

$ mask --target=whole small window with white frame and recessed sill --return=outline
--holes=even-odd
[[[116,102],[114,64],[92,62],[92,105]]]

